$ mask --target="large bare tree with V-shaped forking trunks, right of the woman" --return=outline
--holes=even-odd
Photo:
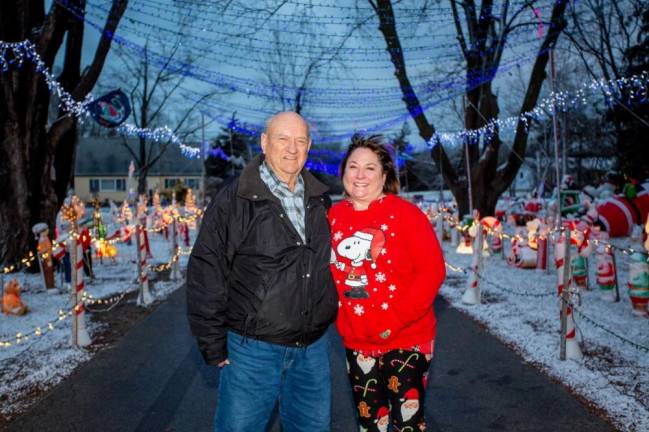
[[[436,129],[426,117],[408,75],[392,1],[367,1],[379,19],[379,31],[385,39],[406,108],[417,126],[419,135],[428,142],[434,137]],[[427,7],[428,2],[424,3],[424,7]],[[498,98],[493,93],[492,80],[500,66],[511,33],[520,26],[533,28],[532,26],[537,25],[534,19],[524,20],[521,17],[524,13],[528,16],[532,14],[532,8],[538,2],[503,1],[499,4],[500,8],[491,0],[481,2],[480,6],[473,0],[449,0],[449,3],[465,64],[464,127],[468,130],[479,129],[499,116]],[[520,103],[520,113],[534,108],[539,99],[547,75],[546,66],[550,50],[554,48],[566,26],[564,15],[567,5],[567,0],[557,0],[552,6],[549,29],[536,52],[525,96]],[[492,136],[483,137],[481,142],[468,143],[472,201],[474,208],[480,210],[481,214],[494,213],[496,201],[516,178],[523,163],[527,138],[528,129],[525,123],[519,120],[511,150],[504,164],[499,162],[502,142],[498,131]],[[468,176],[466,172],[465,175],[460,175],[460,171],[451,164],[442,143],[434,142],[433,145],[431,156],[441,169],[447,187],[458,202],[460,212],[465,214],[469,211]]]

